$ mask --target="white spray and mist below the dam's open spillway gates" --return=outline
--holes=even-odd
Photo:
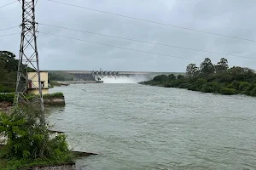
[[[104,83],[137,83],[148,80],[147,77],[134,76],[134,77],[103,77],[102,81]]]

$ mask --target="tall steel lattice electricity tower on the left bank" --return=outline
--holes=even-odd
[[[19,0],[22,5],[22,24],[21,41],[20,41],[20,58],[16,82],[16,100],[15,105],[26,104],[32,105],[25,95],[27,88],[33,88],[38,92],[40,111],[42,114],[41,121],[44,122],[44,103],[42,95],[42,84],[40,77],[38,47],[37,47],[37,27],[35,21],[35,0]],[[32,71],[32,77],[28,77],[28,71]]]

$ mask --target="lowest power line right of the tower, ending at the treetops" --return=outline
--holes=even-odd
[[[80,42],[89,42],[89,43],[95,43],[95,44],[104,45],[104,46],[113,47],[113,48],[121,48],[121,49],[130,50],[130,51],[137,51],[137,52],[141,52],[141,53],[145,53],[145,54],[154,54],[154,55],[160,55],[160,56],[165,56],[165,57],[172,57],[172,58],[177,58],[177,59],[188,59],[188,58],[184,58],[184,57],[177,57],[177,56],[166,55],[166,54],[158,54],[158,53],[143,51],[143,50],[139,50],[139,49],[123,48],[123,47],[114,46],[114,45],[110,45],[110,44],[106,44],[106,43],[101,43],[101,42],[90,42],[90,41],[86,41],[86,40],[75,38],[75,37],[60,36],[60,35],[51,34],[51,33],[43,32],[43,31],[40,31],[40,33],[48,34],[48,35],[55,36],[55,37],[65,37],[65,38],[68,38],[68,39],[78,40]],[[198,59],[188,59],[188,60],[200,61]]]

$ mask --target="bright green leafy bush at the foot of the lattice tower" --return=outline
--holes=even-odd
[[[73,161],[66,136],[49,138],[48,127],[38,119],[39,111],[28,107],[0,115],[0,135],[7,137],[7,144],[0,151],[2,160],[7,160],[2,165],[5,169]]]

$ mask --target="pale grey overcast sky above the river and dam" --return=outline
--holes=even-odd
[[[56,1],[173,26],[256,40],[255,0]],[[0,6],[10,2],[13,1],[1,0]],[[20,3],[13,3],[7,7],[0,8],[0,20],[0,30],[20,25]],[[38,31],[51,34],[170,55],[168,57],[144,54],[39,33],[38,54],[42,70],[99,70],[102,68],[102,70],[108,71],[185,71],[186,65],[190,63],[200,65],[201,61],[207,57],[212,59],[212,63],[217,63],[220,58],[224,57],[229,60],[230,66],[239,65],[256,70],[256,42],[131,20],[111,14],[102,14],[83,8],[52,3],[48,0],[38,0],[36,20],[38,23],[92,31],[115,37],[255,58],[245,59],[221,54],[195,52],[39,25]],[[16,32],[20,32],[20,28],[0,31],[0,36]],[[0,38],[0,50],[8,50],[18,56],[20,35]],[[191,60],[178,59],[171,56]]]

